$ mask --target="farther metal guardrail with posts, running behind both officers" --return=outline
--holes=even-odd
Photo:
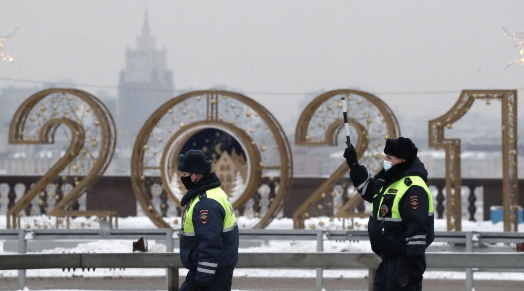
[[[148,240],[166,241],[166,251],[172,252],[174,240],[178,238],[178,231],[172,229],[111,229],[107,223],[101,223],[100,229],[35,229],[35,230],[0,230],[0,240],[18,240],[18,253],[27,252],[29,240],[105,240],[129,239],[137,240],[145,237]],[[354,230],[304,230],[304,229],[242,229],[241,240],[316,240],[316,251],[324,250],[325,240],[335,241],[368,241],[367,231]],[[473,252],[476,243],[522,243],[522,232],[464,232],[464,231],[438,231],[435,232],[435,242],[447,242],[464,245],[462,249]],[[492,251],[492,248],[486,248]],[[492,250],[490,250],[492,249]],[[508,247],[506,247],[506,250]],[[494,249],[497,250],[497,249]],[[440,249],[439,249],[440,251]],[[169,271],[168,271],[169,273]],[[26,272],[18,271],[18,287],[26,286]],[[316,270],[316,289],[323,286],[322,268]],[[473,288],[473,270],[466,270],[466,289]]]

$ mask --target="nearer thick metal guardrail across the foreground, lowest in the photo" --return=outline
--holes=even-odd
[[[427,253],[428,268],[524,268],[524,253]],[[373,287],[380,259],[373,253],[240,253],[237,268],[367,268]],[[178,253],[67,253],[0,255],[0,270],[42,268],[167,268],[167,289],[178,291]]]

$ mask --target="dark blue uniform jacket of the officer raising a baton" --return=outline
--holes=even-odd
[[[429,200],[425,190],[420,186],[412,185],[402,196],[399,203],[402,222],[377,220],[380,214],[379,203],[386,188],[408,175],[420,176],[424,182],[428,181],[428,171],[419,158],[411,163],[403,162],[395,165],[387,172],[383,169],[374,178],[368,175],[366,168],[362,165],[350,172],[351,180],[357,191],[366,201],[373,203],[374,213],[369,217],[368,222],[369,241],[373,252],[383,259],[391,256],[405,256],[409,270],[422,274],[426,267],[425,249],[435,237],[434,216],[428,215]],[[380,187],[382,191],[374,199],[373,196],[379,192]],[[419,206],[416,209],[410,207],[408,197],[411,196],[419,198]],[[414,241],[417,243],[413,243]],[[422,244],[422,242],[425,243]]]

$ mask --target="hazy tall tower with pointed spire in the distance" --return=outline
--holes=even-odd
[[[136,50],[127,48],[125,62],[118,82],[117,127],[119,136],[124,138],[120,147],[133,147],[147,118],[173,97],[173,76],[167,70],[166,48],[156,49],[147,12]]]

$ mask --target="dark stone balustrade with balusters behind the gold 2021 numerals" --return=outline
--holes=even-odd
[[[25,193],[24,189],[29,189],[32,184],[36,183],[40,176],[22,176],[22,175],[0,175],[0,214],[5,214],[6,211],[12,207],[15,202]],[[150,177],[151,187],[160,186],[161,179],[159,177]],[[288,200],[283,207],[284,217],[292,217],[294,211],[301,205],[303,200],[309,195],[313,194],[316,187],[321,185],[325,181],[325,177],[293,177],[291,182],[291,189]],[[62,197],[64,193],[62,188],[64,185],[73,184],[72,181],[55,181],[42,192],[44,198],[39,202],[40,198],[32,200],[31,204],[24,209],[25,214],[35,215],[39,213],[46,213],[45,209],[50,204],[56,203],[57,197]],[[270,181],[268,178],[263,178],[263,184],[269,185]],[[519,188],[524,187],[524,179],[519,179]],[[445,178],[431,178],[428,181],[428,185],[434,187],[436,191],[433,192],[433,203],[435,209],[435,218],[445,218]],[[463,201],[464,205],[464,218],[475,221],[479,218],[477,215],[477,206],[482,206],[482,219],[490,219],[490,207],[502,205],[502,180],[500,178],[463,178],[462,179],[463,191],[469,192],[467,201]],[[15,189],[18,188],[18,189]],[[67,187],[65,187],[67,188]],[[64,189],[65,189],[64,188]],[[275,195],[274,187],[269,187],[272,191],[268,197]],[[482,189],[481,194],[478,194],[476,189]],[[154,192],[151,188],[148,191]],[[465,193],[467,193],[465,192]],[[80,201],[82,209],[85,210],[116,210],[121,217],[136,216],[137,215],[137,201],[133,194],[133,187],[131,178],[129,176],[102,176],[95,185],[93,185],[86,193],[85,203]],[[166,203],[167,195],[160,195],[158,199],[155,195],[154,203]],[[478,196],[478,197],[477,197]],[[481,197],[482,196],[482,197]],[[49,197],[49,198],[47,198]],[[110,199],[108,199],[110,197]],[[331,197],[330,195],[327,196]],[[332,199],[333,197],[331,197]],[[482,203],[479,201],[482,200]],[[524,206],[524,192],[519,193],[519,199],[521,206]],[[331,201],[332,202],[332,201]],[[78,207],[80,207],[80,204]],[[256,205],[258,202],[256,203]],[[334,205],[332,203],[332,205]],[[467,207],[466,207],[467,205]],[[258,207],[258,206],[256,206]],[[466,210],[467,209],[467,210]],[[240,209],[239,209],[240,210]],[[259,211],[260,209],[254,209]],[[169,209],[162,208],[162,216],[170,216],[176,212],[180,216],[180,209]],[[315,210],[316,215],[319,216],[332,216],[333,207],[323,208],[322,211]],[[315,215],[315,216],[316,216]]]

